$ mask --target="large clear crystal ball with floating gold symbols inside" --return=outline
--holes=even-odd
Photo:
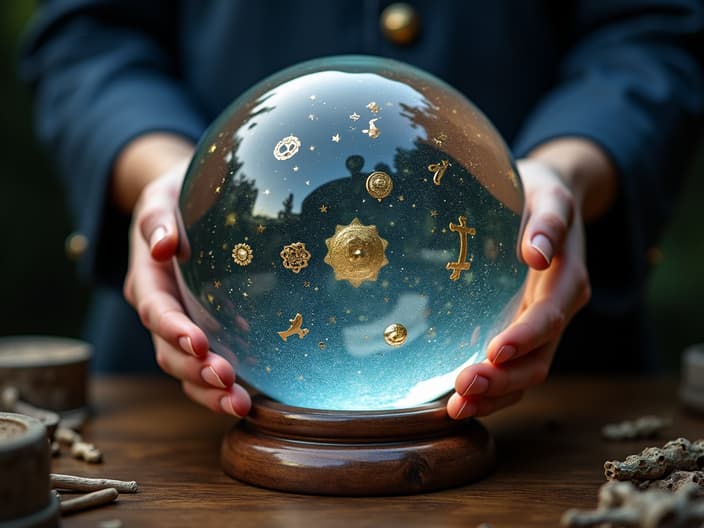
[[[515,315],[523,207],[511,152],[464,95],[390,59],[316,59],[250,88],[200,139],[176,275],[250,389],[414,407]]]

